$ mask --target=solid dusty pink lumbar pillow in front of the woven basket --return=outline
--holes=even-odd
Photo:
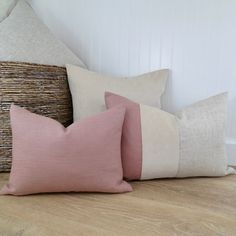
[[[127,192],[120,143],[121,106],[64,128],[12,105],[13,163],[1,194]]]

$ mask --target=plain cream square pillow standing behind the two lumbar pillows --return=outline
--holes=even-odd
[[[114,78],[66,65],[72,94],[74,120],[105,110],[104,92],[111,91],[136,102],[161,107],[168,70],[158,70],[130,78]]]

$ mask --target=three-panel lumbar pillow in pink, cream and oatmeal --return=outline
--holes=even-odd
[[[108,108],[126,107],[122,136],[124,177],[133,179],[223,176],[226,94],[176,115],[107,92]]]

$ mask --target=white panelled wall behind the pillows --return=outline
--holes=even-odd
[[[168,111],[229,91],[227,137],[236,163],[235,0],[31,0],[91,70],[172,73]]]

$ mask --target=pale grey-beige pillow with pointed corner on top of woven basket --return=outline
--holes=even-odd
[[[0,61],[22,61],[65,66],[84,66],[38,19],[32,8],[20,0],[0,23]]]

